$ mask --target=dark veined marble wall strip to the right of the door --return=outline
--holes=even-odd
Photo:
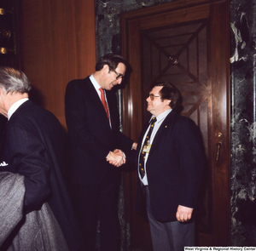
[[[231,242],[256,246],[256,1],[230,2]]]

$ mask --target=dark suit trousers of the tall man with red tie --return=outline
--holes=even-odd
[[[109,172],[111,173],[111,172]],[[102,251],[119,250],[117,175],[106,177],[96,185],[73,185],[73,202],[88,251],[96,250],[96,230],[100,221],[100,247]]]

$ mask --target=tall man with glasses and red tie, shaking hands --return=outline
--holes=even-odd
[[[95,250],[98,219],[101,250],[120,248],[117,212],[120,173],[116,167],[125,163],[123,151],[136,149],[137,144],[119,132],[117,100],[110,90],[122,82],[125,71],[123,57],[106,54],[96,64],[94,74],[67,84],[70,182],[86,250]]]

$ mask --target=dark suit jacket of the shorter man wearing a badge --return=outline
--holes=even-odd
[[[138,151],[147,128],[148,124],[138,141]],[[155,134],[146,165],[151,209],[156,220],[177,220],[178,205],[195,208],[204,154],[201,134],[194,121],[171,111]],[[139,203],[139,179],[137,191]]]

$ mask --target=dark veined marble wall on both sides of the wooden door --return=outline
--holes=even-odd
[[[178,0],[176,0],[178,1]],[[172,0],[96,0],[97,58],[120,53],[120,14]],[[230,0],[231,244],[256,246],[256,0]],[[121,192],[122,194],[122,192]],[[120,202],[123,202],[121,195]],[[122,205],[122,203],[120,203]],[[122,206],[121,217],[124,219]],[[123,220],[122,247],[129,247]]]

